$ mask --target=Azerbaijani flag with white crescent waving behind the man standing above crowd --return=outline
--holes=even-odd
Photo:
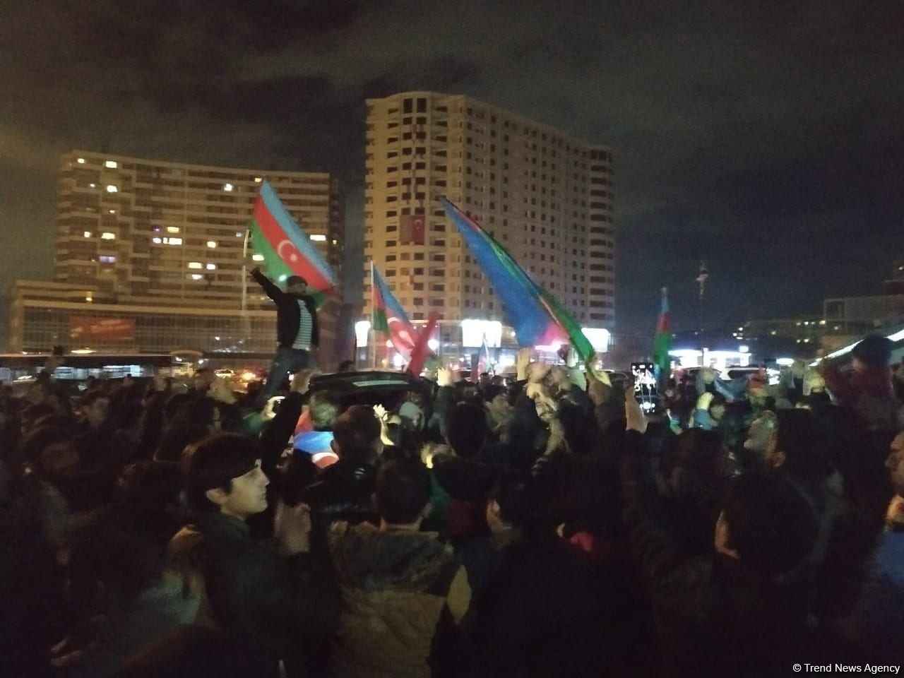
[[[336,286],[335,273],[266,179],[260,184],[248,228],[251,244],[264,258],[270,278],[279,282],[289,276],[305,278],[317,308],[324,306],[326,294]]]

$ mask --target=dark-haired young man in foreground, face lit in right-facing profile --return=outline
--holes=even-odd
[[[248,519],[267,508],[268,455],[235,434],[207,438],[185,461],[193,523],[170,541],[168,555],[187,581],[202,583],[197,624],[219,629],[241,655],[244,673],[289,675],[321,662],[318,647],[338,623],[339,591],[325,552],[309,541],[310,524],[284,525],[279,551],[251,538]]]

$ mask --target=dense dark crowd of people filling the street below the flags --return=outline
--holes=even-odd
[[[299,306],[300,307],[300,306]],[[389,411],[258,384],[0,395],[6,676],[901,664],[904,366],[664,384],[519,353]],[[267,394],[278,391],[268,384]],[[301,423],[299,423],[301,422]]]

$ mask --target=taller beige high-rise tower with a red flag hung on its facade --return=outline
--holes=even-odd
[[[581,325],[615,320],[612,151],[476,99],[367,100],[364,257],[413,320],[505,322],[438,199],[494,234]],[[364,312],[370,280],[364,279]]]

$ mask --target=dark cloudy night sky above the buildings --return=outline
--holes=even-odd
[[[663,285],[695,325],[701,259],[708,325],[820,312],[904,255],[902,27],[882,1],[7,1],[0,284],[52,275],[74,147],[334,172],[360,261],[364,99],[433,89],[615,149],[619,331],[652,334]]]

